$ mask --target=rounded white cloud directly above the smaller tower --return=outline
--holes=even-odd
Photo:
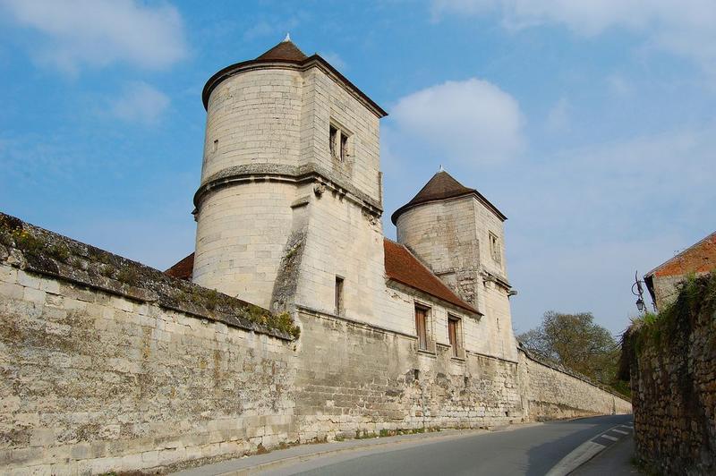
[[[447,81],[398,100],[391,122],[406,142],[430,147],[447,161],[496,163],[523,149],[523,115],[515,98],[487,81]]]

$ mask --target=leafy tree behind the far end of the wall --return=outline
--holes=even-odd
[[[542,323],[517,336],[524,347],[586,377],[612,385],[619,360],[617,341],[591,312],[544,313]]]

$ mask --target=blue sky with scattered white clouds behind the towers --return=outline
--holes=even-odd
[[[0,209],[166,268],[193,249],[222,67],[291,32],[390,115],[390,214],[442,164],[509,218],[518,332],[618,333],[648,271],[716,229],[711,0],[0,0]]]

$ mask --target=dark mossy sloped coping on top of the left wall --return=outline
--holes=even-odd
[[[299,327],[286,312],[275,314],[216,290],[166,276],[158,269],[4,213],[0,213],[0,262],[227,326],[285,340],[299,336]]]

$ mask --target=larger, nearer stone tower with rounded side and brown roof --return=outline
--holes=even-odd
[[[385,111],[287,36],[214,74],[203,101],[194,282],[273,310],[372,313]]]

